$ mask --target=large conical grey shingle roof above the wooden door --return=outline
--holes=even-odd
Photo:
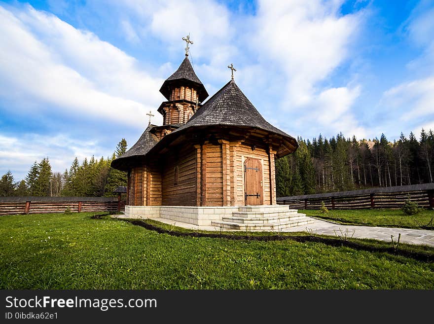
[[[290,140],[295,139],[268,123],[254,108],[234,80],[224,85],[188,122],[172,133],[194,126],[245,126],[263,129]]]

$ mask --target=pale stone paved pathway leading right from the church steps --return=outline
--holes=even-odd
[[[312,218],[312,217],[310,217]],[[216,226],[197,226],[188,223],[182,223],[165,218],[153,218],[162,223],[171,224],[183,228],[205,230],[205,231],[218,231]],[[399,242],[408,244],[423,244],[434,247],[434,231],[425,229],[411,229],[411,228],[394,228],[394,227],[372,227],[372,226],[355,226],[355,225],[341,225],[332,223],[325,220],[314,219],[313,223],[302,226],[294,226],[283,229],[283,232],[311,232],[316,234],[336,236],[345,235],[353,238],[363,239],[376,239],[380,241],[391,242],[390,236],[394,236],[394,241],[398,241],[398,234],[401,233],[401,239]],[[225,229],[225,231],[229,231]]]

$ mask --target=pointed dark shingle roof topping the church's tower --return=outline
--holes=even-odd
[[[195,83],[195,85],[198,87],[197,91],[200,102],[204,101],[208,97],[208,92],[191,67],[188,57],[185,57],[178,70],[169,76],[160,88],[160,92],[164,97],[167,98],[167,100],[170,100],[170,91],[168,86],[171,83],[177,82],[179,80],[187,80]]]

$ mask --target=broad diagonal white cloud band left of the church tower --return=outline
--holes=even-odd
[[[42,113],[55,106],[67,114],[136,127],[161,102],[162,79],[141,72],[134,58],[56,16],[31,6],[16,13],[0,6],[0,29],[0,94],[6,98],[30,98],[40,103],[36,109]]]

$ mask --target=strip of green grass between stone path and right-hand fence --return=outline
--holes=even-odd
[[[329,210],[327,214],[322,214],[319,210],[300,210],[299,212],[346,225],[434,229],[434,220],[429,224],[434,218],[434,211],[427,209],[413,216],[405,215],[400,209]],[[428,226],[423,227],[426,225]]]

